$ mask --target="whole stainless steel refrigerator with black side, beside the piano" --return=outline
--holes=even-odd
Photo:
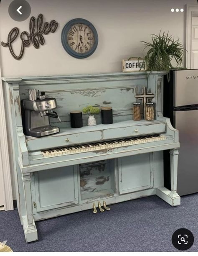
[[[198,192],[198,69],[171,71],[170,82],[164,77],[165,117],[179,130],[179,195]],[[164,152],[164,182],[170,189],[169,152]]]

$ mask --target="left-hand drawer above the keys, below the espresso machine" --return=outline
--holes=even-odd
[[[64,134],[57,133],[56,136],[46,136],[43,138],[33,138],[26,140],[28,151],[38,151],[46,148],[61,148],[72,144],[78,145],[90,141],[100,141],[102,139],[101,131]]]

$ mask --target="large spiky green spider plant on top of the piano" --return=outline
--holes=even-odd
[[[145,48],[149,48],[145,56],[145,67],[147,71],[166,71],[168,80],[170,80],[171,69],[181,69],[183,57],[186,49],[179,42],[179,38],[175,40],[174,36],[170,36],[165,32],[159,36],[152,34],[151,42],[141,41],[145,44]],[[176,62],[173,67],[172,61]]]

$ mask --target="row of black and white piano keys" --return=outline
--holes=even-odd
[[[60,156],[66,154],[77,154],[88,151],[96,151],[96,150],[104,150],[104,149],[112,149],[124,146],[130,146],[140,143],[147,143],[153,141],[162,141],[167,137],[160,134],[147,135],[147,136],[138,136],[138,137],[130,137],[130,138],[122,138],[116,139],[112,141],[100,141],[94,143],[86,143],[81,145],[73,145],[67,146],[64,148],[53,148],[48,150],[41,151],[43,157],[51,157],[51,156]]]

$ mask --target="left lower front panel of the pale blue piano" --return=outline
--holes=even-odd
[[[77,166],[35,172],[31,183],[35,213],[79,203]]]

